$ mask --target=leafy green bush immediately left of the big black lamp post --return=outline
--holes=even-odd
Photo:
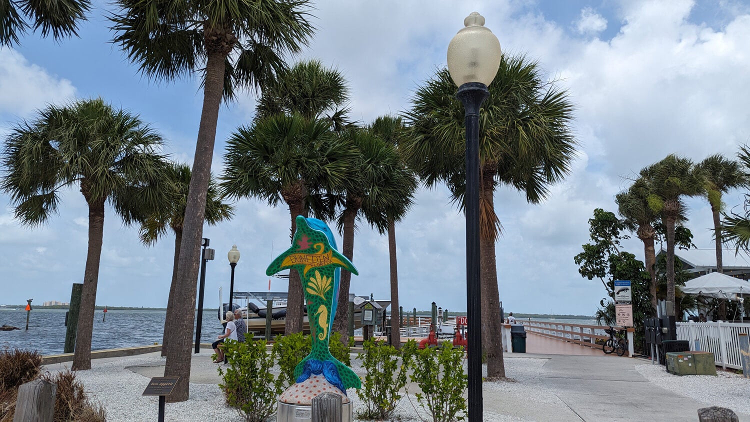
[[[454,349],[447,341],[437,347],[416,351],[410,379],[422,390],[415,394],[417,403],[431,415],[431,419],[420,416],[422,421],[452,422],[466,419],[466,399],[463,398],[466,392],[466,374],[463,373],[463,361],[463,348]]]

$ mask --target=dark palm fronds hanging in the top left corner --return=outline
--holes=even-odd
[[[78,36],[78,25],[91,10],[90,0],[3,1],[0,6],[0,47],[20,43],[20,36],[41,29],[55,41]]]

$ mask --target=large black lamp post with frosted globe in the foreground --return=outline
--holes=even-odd
[[[448,46],[448,70],[458,85],[466,127],[466,315],[469,328],[469,422],[481,422],[481,286],[479,279],[479,106],[500,65],[500,43],[472,12]]]

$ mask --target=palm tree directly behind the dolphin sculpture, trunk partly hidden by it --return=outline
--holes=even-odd
[[[329,121],[299,114],[272,115],[240,127],[226,142],[221,189],[232,198],[254,197],[289,206],[292,233],[307,217],[310,196],[344,183],[353,152]],[[302,281],[290,271],[286,334],[302,331]],[[348,301],[348,298],[347,298]]]

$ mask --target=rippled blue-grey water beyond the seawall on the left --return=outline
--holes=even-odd
[[[32,310],[26,331],[26,311],[0,310],[0,325],[21,328],[0,331],[0,348],[37,350],[42,355],[62,353],[65,346],[65,312]],[[94,314],[92,350],[147,346],[162,341],[166,311],[109,310],[106,322],[102,322],[103,315],[101,310]],[[203,312],[202,325],[201,343],[211,343],[222,333],[215,310]]]

